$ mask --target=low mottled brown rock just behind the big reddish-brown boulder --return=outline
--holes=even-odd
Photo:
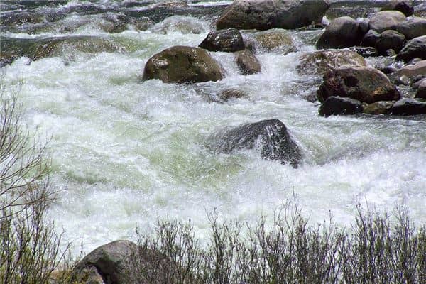
[[[350,50],[320,50],[302,55],[297,71],[300,74],[324,75],[342,65],[366,66],[366,60]]]

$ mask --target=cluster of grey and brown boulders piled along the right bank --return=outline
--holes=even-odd
[[[407,1],[394,1],[370,19],[355,20],[349,16],[335,18],[317,40],[317,48],[352,48],[363,46],[375,51],[369,55],[393,56],[405,64],[400,70],[383,68],[383,72],[365,67],[350,51],[340,58],[341,50],[328,50],[302,58],[303,65],[315,63],[325,70],[317,91],[322,102],[320,114],[425,114],[426,102],[426,18],[407,18],[413,6]],[[363,48],[354,48],[360,53]],[[350,54],[350,56],[348,55]],[[362,53],[361,53],[362,54]],[[352,61],[352,62],[351,62]],[[353,63],[356,62],[356,64]],[[361,64],[360,64],[361,63]],[[314,65],[315,65],[314,64]],[[342,66],[347,65],[347,66]],[[391,80],[390,80],[391,79]],[[417,89],[414,97],[403,97],[393,84],[411,84]]]

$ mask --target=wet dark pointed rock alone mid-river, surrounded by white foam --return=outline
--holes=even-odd
[[[290,137],[283,122],[278,119],[237,126],[217,133],[213,139],[217,143],[214,147],[222,153],[257,148],[261,151],[262,158],[290,163],[295,168],[302,158],[299,146]]]

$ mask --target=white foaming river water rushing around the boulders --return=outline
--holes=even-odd
[[[305,96],[320,76],[300,75],[296,67],[300,55],[315,50],[321,29],[289,31],[297,51],[287,55],[258,50],[258,75],[239,75],[234,55],[217,52],[211,54],[226,70],[224,80],[142,82],[148,58],[172,45],[200,44],[229,1],[175,12],[143,1],[39,2],[1,4],[3,20],[21,15],[4,20],[2,53],[8,40],[99,39],[64,44],[31,64],[18,56],[1,68],[7,86],[21,84],[31,131],[50,138],[51,182],[61,190],[50,216],[67,241],[89,251],[134,238],[136,225],[149,231],[158,217],[191,219],[202,236],[207,212],[250,224],[293,195],[312,222],[332,212],[349,224],[356,204],[368,202],[379,209],[403,204],[425,224],[425,116],[318,116],[318,105]],[[352,11],[368,16],[377,9]],[[127,21],[141,16],[153,21],[146,31]],[[126,24],[111,33],[120,17]],[[212,102],[229,88],[249,97]],[[207,147],[218,129],[273,118],[302,149],[297,169],[263,160],[256,150],[217,154]]]

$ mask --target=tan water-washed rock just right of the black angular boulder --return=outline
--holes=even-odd
[[[266,51],[279,51],[283,55],[295,51],[295,44],[291,35],[281,29],[274,29],[254,35],[257,48]]]

